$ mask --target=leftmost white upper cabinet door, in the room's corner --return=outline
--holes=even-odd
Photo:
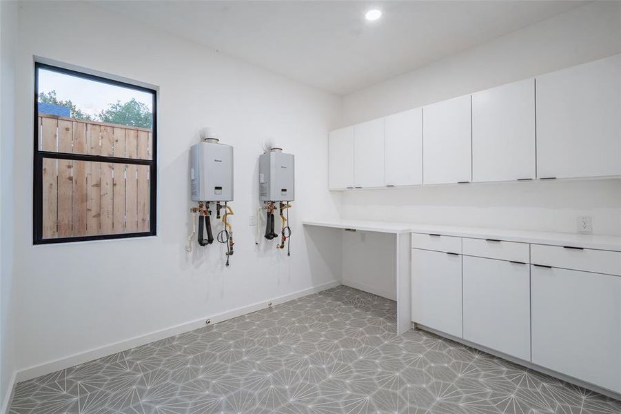
[[[329,188],[339,190],[354,186],[354,127],[330,132]]]

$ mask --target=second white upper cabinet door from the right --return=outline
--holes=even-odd
[[[472,95],[472,181],[535,179],[535,80]]]

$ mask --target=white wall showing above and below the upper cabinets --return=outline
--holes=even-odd
[[[341,126],[621,53],[621,2],[593,2],[347,95]],[[621,235],[621,181],[525,182],[356,190],[343,216]]]

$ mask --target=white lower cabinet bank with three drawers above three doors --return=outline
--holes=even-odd
[[[413,322],[621,394],[621,252],[423,233],[411,246]]]

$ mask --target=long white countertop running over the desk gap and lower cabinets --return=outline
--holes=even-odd
[[[500,239],[507,242],[549,244],[553,246],[574,246],[600,250],[621,251],[621,237],[604,235],[582,235],[578,233],[556,233],[530,230],[508,230],[502,228],[436,226],[434,224],[398,223],[392,221],[370,221],[352,219],[304,220],[305,226],[331,228],[353,228],[360,231],[379,233],[438,233],[447,236],[473,237],[476,239]]]

